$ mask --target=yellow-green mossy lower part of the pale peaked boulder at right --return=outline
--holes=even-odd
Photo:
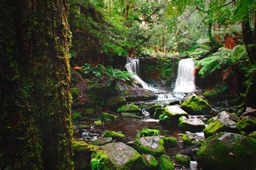
[[[219,120],[212,122],[210,125],[208,125],[204,130],[205,138],[208,138],[212,136],[215,133],[218,132],[239,132],[238,129],[230,128],[228,126],[225,126],[223,123],[221,123]]]

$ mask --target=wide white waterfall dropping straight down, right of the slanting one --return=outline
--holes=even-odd
[[[194,61],[193,59],[182,59],[179,61],[178,76],[173,91],[189,93],[196,90],[194,84]]]

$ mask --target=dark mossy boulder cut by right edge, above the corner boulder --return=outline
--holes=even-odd
[[[246,132],[249,134],[256,130],[256,117],[245,116],[243,117],[237,124],[238,129],[240,131]]]

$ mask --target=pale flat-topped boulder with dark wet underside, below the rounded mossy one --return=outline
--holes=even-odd
[[[183,131],[200,132],[205,129],[205,123],[201,119],[181,116],[179,118],[179,128]]]

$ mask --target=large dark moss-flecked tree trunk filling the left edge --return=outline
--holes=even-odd
[[[0,169],[72,169],[67,4],[0,5]]]

